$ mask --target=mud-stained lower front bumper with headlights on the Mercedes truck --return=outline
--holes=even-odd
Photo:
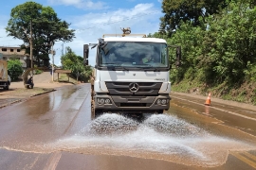
[[[122,112],[159,112],[169,110],[169,94],[158,96],[95,95],[95,110]]]

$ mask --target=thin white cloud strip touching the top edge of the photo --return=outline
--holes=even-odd
[[[83,9],[102,9],[107,8],[104,2],[93,2],[91,0],[47,0],[51,5],[64,5],[64,6],[74,6],[76,8]]]

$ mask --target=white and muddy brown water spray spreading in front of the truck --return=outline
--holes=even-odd
[[[74,136],[46,144],[42,149],[218,166],[225,163],[229,150],[256,147],[211,135],[172,115],[152,115],[138,123],[119,114],[103,114]]]

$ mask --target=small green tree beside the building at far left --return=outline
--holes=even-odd
[[[19,59],[9,59],[8,72],[11,80],[17,80],[23,73],[22,62]]]

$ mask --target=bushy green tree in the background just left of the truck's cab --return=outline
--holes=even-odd
[[[86,81],[91,76],[92,70],[89,66],[83,65],[83,58],[77,56],[70,47],[67,47],[67,53],[61,58],[64,69],[71,70],[71,74],[77,80]]]

